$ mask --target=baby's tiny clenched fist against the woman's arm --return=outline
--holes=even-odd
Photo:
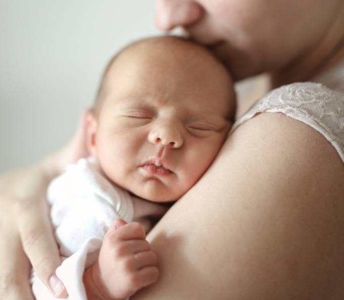
[[[157,257],[140,223],[115,220],[107,231],[92,272],[97,294],[104,299],[125,299],[159,276]],[[86,283],[86,282],[85,282]]]

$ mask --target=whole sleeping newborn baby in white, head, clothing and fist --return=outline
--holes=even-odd
[[[211,165],[234,114],[230,75],[191,41],[147,38],[110,61],[88,116],[91,156],[48,189],[69,299],[125,299],[158,279],[146,233]],[[55,299],[34,274],[32,290]]]

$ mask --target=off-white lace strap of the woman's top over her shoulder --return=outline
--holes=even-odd
[[[281,112],[313,127],[334,146],[344,162],[344,59],[315,78],[281,86],[260,98],[233,125],[232,131],[263,112]]]

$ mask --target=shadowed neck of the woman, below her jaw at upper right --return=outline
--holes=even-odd
[[[344,3],[321,41],[284,68],[270,73],[271,88],[298,81],[309,81],[344,58]]]

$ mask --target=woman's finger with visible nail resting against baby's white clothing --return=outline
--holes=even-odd
[[[24,252],[39,279],[55,297],[66,297],[67,292],[55,270],[61,265],[58,247],[48,215],[48,206],[41,202],[36,206],[18,209],[19,232]]]

